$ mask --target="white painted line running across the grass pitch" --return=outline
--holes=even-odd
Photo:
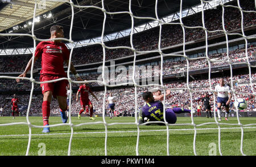
[[[256,127],[243,127],[243,129],[251,129]],[[221,129],[241,129],[241,127],[222,127]],[[195,129],[169,129],[169,131],[187,131]],[[204,128],[196,130],[218,130],[218,128]],[[140,132],[153,132],[153,131],[166,131],[166,130],[140,130]],[[138,132],[138,131],[108,131],[108,133],[123,133],[123,132]],[[71,133],[55,133],[55,134],[31,134],[31,136],[46,136],[46,135],[70,135]],[[73,132],[73,134],[105,134],[105,131],[96,131],[96,132]],[[0,135],[1,137],[13,137],[13,136],[29,136],[29,134],[23,135]]]

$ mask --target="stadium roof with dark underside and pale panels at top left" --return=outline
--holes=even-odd
[[[2,2],[1,2],[2,1]],[[3,3],[5,2],[5,3]],[[10,3],[6,3],[10,2]],[[67,1],[38,1],[34,33],[41,39],[49,38],[49,28],[53,24],[64,27],[65,37],[69,38],[71,28],[72,7]],[[155,0],[131,1],[131,11],[134,16],[155,16]],[[104,12],[98,8],[102,7],[100,0],[76,0],[73,1],[73,27],[72,40],[79,41],[85,38],[101,36]],[[183,0],[183,8],[189,8],[200,4],[200,0]],[[1,33],[27,33],[31,35],[32,18],[34,14],[35,1],[28,0],[0,0],[0,31]],[[108,12],[129,11],[129,0],[105,0],[104,8]],[[172,14],[180,10],[180,0],[167,1],[158,0],[158,17]],[[150,19],[134,19],[134,26],[151,21]],[[121,31],[131,27],[131,16],[128,13],[106,14],[105,34]],[[32,47],[33,40],[28,36],[0,36],[0,48],[26,48]]]

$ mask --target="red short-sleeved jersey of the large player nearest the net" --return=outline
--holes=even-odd
[[[35,57],[42,57],[41,74],[66,75],[63,63],[69,59],[69,50],[64,43],[42,41],[36,46]]]

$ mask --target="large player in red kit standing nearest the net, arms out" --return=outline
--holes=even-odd
[[[64,31],[60,25],[53,25],[50,28],[51,38],[63,38]],[[42,58],[42,70],[40,71],[40,82],[51,81],[60,78],[67,78],[67,74],[64,71],[63,63],[69,64],[69,50],[67,46],[61,40],[42,41],[36,46],[34,62],[38,58]],[[27,63],[26,69],[19,77],[26,77],[28,70],[32,65],[32,58]],[[79,74],[71,62],[71,72],[76,76],[76,79],[82,81]],[[19,79],[16,79],[19,82]],[[63,123],[67,122],[67,84],[68,80],[60,80],[58,82],[42,83],[40,84],[43,94],[43,125],[48,126],[48,120],[50,115],[50,104],[52,96],[57,99],[60,107],[61,117],[63,117]],[[43,132],[49,132],[49,127],[44,127]]]

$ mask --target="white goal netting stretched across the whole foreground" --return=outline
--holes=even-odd
[[[51,0],[51,1],[54,1],[54,0]],[[217,29],[217,30],[214,30],[214,31],[209,31],[206,27],[205,27],[205,20],[204,20],[204,10],[201,10],[201,18],[202,18],[202,23],[203,23],[203,26],[196,26],[196,27],[188,27],[186,25],[183,24],[183,9],[182,9],[182,6],[183,6],[183,1],[181,0],[180,1],[180,14],[179,14],[179,22],[176,22],[176,23],[166,23],[166,22],[163,22],[162,19],[160,19],[158,17],[158,0],[155,1],[155,18],[151,18],[151,17],[139,17],[139,16],[135,16],[133,14],[133,11],[131,10],[131,0],[129,1],[129,11],[120,11],[120,12],[109,12],[105,9],[105,5],[104,5],[104,1],[101,1],[101,6],[102,7],[97,7],[97,6],[78,6],[78,5],[75,5],[72,0],[71,1],[57,1],[57,2],[65,2],[65,3],[69,3],[71,5],[71,9],[72,9],[72,18],[71,18],[71,29],[69,31],[69,39],[67,38],[55,38],[55,39],[51,39],[51,40],[64,40],[64,41],[68,41],[70,44],[71,44],[71,52],[70,52],[70,57],[69,57],[69,65],[68,65],[68,78],[61,78],[61,79],[57,79],[57,80],[51,80],[49,82],[56,82],[56,81],[59,81],[59,80],[68,80],[69,84],[71,85],[70,89],[72,90],[72,83],[76,83],[76,84],[79,84],[79,83],[85,83],[85,82],[77,82],[75,80],[72,80],[72,78],[70,77],[69,75],[69,71],[70,71],[70,67],[71,67],[71,59],[72,59],[72,53],[73,53],[73,49],[74,49],[74,46],[75,45],[81,45],[81,44],[75,44],[75,42],[72,40],[72,27],[73,27],[73,19],[74,19],[74,7],[77,7],[77,8],[95,8],[96,10],[99,10],[99,11],[102,11],[104,13],[104,21],[103,21],[103,27],[102,27],[102,35],[101,35],[101,42],[95,42],[95,44],[99,44],[102,46],[102,50],[103,50],[103,63],[102,63],[102,74],[105,74],[105,60],[106,60],[106,51],[105,49],[129,49],[131,51],[133,51],[134,53],[134,61],[133,61],[133,78],[132,78],[132,82],[129,82],[129,83],[121,83],[121,84],[115,84],[115,85],[112,85],[112,84],[109,84],[108,83],[108,80],[105,79],[104,75],[102,75],[102,82],[101,81],[98,81],[98,80],[88,80],[86,83],[93,83],[93,82],[98,82],[102,85],[104,85],[105,87],[105,91],[104,91],[104,100],[103,100],[103,105],[102,105],[102,117],[103,117],[103,122],[89,122],[89,123],[81,123],[79,125],[73,125],[72,123],[72,117],[71,117],[71,112],[69,112],[69,122],[68,123],[60,123],[60,124],[56,124],[56,125],[49,125],[49,127],[56,127],[56,126],[69,126],[71,127],[71,136],[70,136],[70,139],[69,139],[69,146],[68,146],[68,155],[71,155],[71,144],[72,144],[72,137],[73,137],[73,128],[74,127],[78,127],[78,126],[83,126],[83,125],[90,125],[90,124],[104,124],[105,126],[105,155],[108,155],[108,152],[107,152],[107,142],[108,142],[108,127],[109,126],[112,126],[112,125],[137,125],[137,144],[136,144],[136,155],[139,155],[139,136],[140,136],[140,127],[141,125],[139,125],[138,123],[138,115],[135,114],[135,121],[134,122],[129,122],[129,123],[120,123],[120,122],[115,122],[115,123],[107,123],[106,122],[106,119],[105,119],[105,101],[106,101],[106,93],[107,93],[107,87],[118,87],[118,86],[121,86],[121,85],[127,85],[127,84],[131,84],[131,85],[134,85],[134,89],[135,89],[135,111],[138,111],[138,93],[137,93],[137,88],[139,87],[150,87],[150,86],[156,86],[156,87],[159,87],[159,88],[162,88],[162,89],[166,89],[166,86],[163,84],[163,57],[165,55],[171,55],[171,56],[174,56],[174,57],[183,57],[185,58],[185,60],[187,61],[187,88],[183,88],[183,90],[185,91],[188,91],[189,94],[190,94],[190,99],[191,99],[191,106],[192,106],[192,109],[193,109],[193,104],[192,104],[192,93],[193,92],[200,92],[200,91],[195,91],[195,90],[192,90],[191,87],[189,86],[189,61],[191,60],[196,60],[198,58],[189,58],[188,55],[186,55],[186,52],[185,52],[185,28],[187,29],[196,29],[196,28],[201,28],[204,30],[204,33],[205,33],[205,59],[207,60],[207,63],[208,63],[208,67],[209,67],[209,78],[208,78],[208,82],[209,82],[209,89],[206,89],[204,90],[204,92],[213,92],[214,89],[212,88],[212,84],[211,83],[211,63],[213,62],[218,62],[217,60],[212,60],[209,58],[208,56],[208,33],[215,33],[215,32],[222,32],[224,33],[225,35],[225,38],[226,38],[226,58],[228,59],[228,63],[229,63],[229,66],[230,66],[230,78],[231,78],[231,89],[232,89],[232,93],[236,99],[236,95],[239,95],[241,93],[238,93],[236,91],[234,91],[234,85],[233,85],[233,73],[232,73],[232,65],[234,64],[239,64],[239,63],[233,63],[232,61],[230,61],[229,59],[229,39],[228,39],[228,35],[239,35],[241,36],[244,40],[245,40],[245,55],[246,55],[246,59],[247,59],[247,66],[248,66],[248,69],[249,69],[249,76],[250,76],[250,87],[251,87],[251,90],[253,91],[253,93],[251,93],[252,95],[256,95],[255,92],[254,92],[254,88],[253,88],[253,83],[252,83],[252,80],[251,80],[251,67],[255,67],[253,65],[250,64],[249,62],[249,57],[248,57],[248,53],[247,53],[247,40],[249,40],[250,38],[247,37],[245,35],[245,32],[243,31],[243,13],[244,12],[254,12],[255,11],[245,11],[243,10],[241,7],[240,7],[240,1],[237,1],[238,3],[238,6],[225,6],[224,3],[225,1],[214,1],[214,2],[219,2],[220,3],[220,6],[222,7],[222,29]],[[208,3],[208,1],[203,1],[201,0],[201,6],[204,6],[205,3]],[[35,1],[35,8],[34,8],[34,16],[33,16],[33,20],[35,20],[35,17],[36,17],[36,7],[38,6],[38,2]],[[226,31],[226,28],[225,28],[225,21],[224,21],[224,12],[225,12],[225,8],[224,7],[234,7],[234,8],[237,8],[238,10],[240,10],[241,12],[241,30],[242,30],[242,34],[240,33],[229,33],[228,31]],[[203,7],[202,7],[203,9]],[[104,43],[104,34],[105,34],[105,23],[106,23],[106,15],[115,15],[115,14],[128,14],[131,16],[131,33],[130,33],[130,45],[131,47],[127,47],[127,46],[116,46],[116,47],[109,47],[109,46],[106,46],[105,43]],[[138,53],[151,53],[151,51],[138,51],[137,49],[135,49],[134,47],[134,44],[133,44],[133,35],[134,35],[134,19],[146,19],[146,20],[153,20],[155,21],[156,23],[159,24],[159,39],[158,39],[158,49],[157,50],[154,50],[153,52],[158,52],[159,55],[160,55],[160,58],[161,58],[161,65],[160,65],[160,84],[148,84],[148,85],[140,85],[136,82],[135,80],[135,75],[136,75],[136,71],[135,71],[135,65],[136,65],[136,60],[137,60],[137,54]],[[182,30],[183,30],[183,53],[182,54],[166,54],[166,53],[163,53],[162,52],[162,48],[161,48],[161,41],[162,41],[162,38],[161,38],[161,35],[162,35],[162,26],[166,24],[166,25],[180,25]],[[32,34],[29,35],[29,34],[23,34],[23,33],[1,33],[0,35],[1,36],[29,36],[31,38],[33,38],[34,40],[34,50],[36,48],[36,41],[48,41],[48,40],[43,40],[43,39],[40,39],[40,38],[37,38],[34,34],[34,26],[35,26],[35,22],[32,23]],[[86,45],[86,44],[82,44],[81,46],[83,45]],[[33,52],[33,59],[32,59],[32,67],[31,69],[34,68],[34,52]],[[202,58],[202,57],[200,57]],[[244,64],[244,62],[242,62]],[[241,63],[241,64],[242,64]],[[0,78],[6,78],[6,79],[16,79],[16,77],[11,77],[11,76],[0,76]],[[40,84],[40,83],[49,83],[49,82],[36,82],[36,80],[34,79],[33,77],[33,72],[31,70],[31,74],[30,74],[30,78],[19,78],[19,79],[25,79],[25,80],[29,80],[31,83],[32,83],[32,88],[31,88],[31,93],[30,93],[30,100],[29,100],[29,103],[28,103],[28,109],[27,109],[27,122],[18,122],[18,123],[5,123],[5,124],[1,124],[0,126],[9,126],[9,125],[28,125],[28,128],[29,128],[29,137],[28,137],[28,145],[27,145],[27,151],[26,151],[26,155],[29,155],[29,151],[30,151],[30,144],[31,144],[31,127],[37,127],[37,128],[42,128],[43,126],[36,126],[36,125],[32,125],[30,120],[29,120],[29,111],[30,111],[30,108],[31,108],[31,101],[32,101],[32,95],[33,95],[33,91],[34,91],[34,84]],[[172,88],[171,91],[175,91],[177,90],[178,88]],[[214,99],[216,99],[216,96],[213,95]],[[72,95],[69,95],[69,98],[71,99],[72,98]],[[166,92],[164,92],[164,100],[163,100],[163,104],[165,104],[166,102]],[[71,106],[70,110],[72,110],[72,105],[71,105],[71,101],[69,101],[69,106]],[[164,123],[166,125],[166,132],[167,132],[167,142],[166,142],[166,148],[167,148],[167,155],[170,155],[170,152],[169,152],[169,138],[170,138],[170,129],[169,129],[169,126],[174,126],[174,125],[171,125],[171,124],[168,124],[167,121],[166,121],[166,115],[165,115],[165,109],[166,109],[166,106],[164,106]],[[216,103],[214,101],[214,111],[216,110]],[[243,129],[247,126],[251,126],[251,125],[256,125],[255,124],[250,124],[250,125],[242,125],[242,123],[240,122],[240,119],[239,119],[239,116],[238,116],[238,110],[236,110],[237,112],[237,120],[238,120],[238,123],[236,124],[230,124],[230,123],[220,123],[217,121],[217,118],[216,118],[216,112],[214,112],[214,122],[208,122],[208,123],[201,123],[199,125],[196,125],[194,120],[193,120],[193,114],[191,114],[191,123],[179,123],[179,124],[175,124],[175,126],[184,126],[184,125],[192,125],[193,126],[193,130],[194,130],[194,138],[193,138],[193,152],[195,155],[197,155],[196,153],[196,135],[197,135],[197,127],[199,126],[204,126],[204,125],[210,125],[210,124],[214,124],[214,125],[217,125],[218,126],[218,149],[219,149],[219,153],[220,155],[222,155],[221,153],[221,125],[232,125],[232,126],[240,126],[241,128],[241,154],[242,155],[245,155],[243,153]],[[151,122],[151,123],[159,123],[159,122]],[[146,125],[147,123],[144,123],[144,125]]]

